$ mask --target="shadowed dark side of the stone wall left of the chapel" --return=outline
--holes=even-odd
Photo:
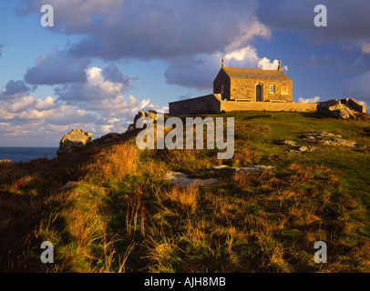
[[[170,115],[204,115],[221,113],[221,95],[211,94],[170,102]]]

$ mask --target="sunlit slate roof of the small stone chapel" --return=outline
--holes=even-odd
[[[279,70],[242,69],[235,67],[223,67],[222,69],[231,79],[292,81],[283,71]]]

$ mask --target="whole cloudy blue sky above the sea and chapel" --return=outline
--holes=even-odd
[[[327,26],[314,25],[316,5]],[[369,11],[368,0],[2,0],[0,146],[123,133],[139,110],[211,94],[222,58],[281,60],[293,102],[370,105]]]

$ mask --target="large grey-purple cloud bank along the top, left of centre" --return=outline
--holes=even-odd
[[[43,0],[28,0],[25,13],[38,13]],[[78,57],[111,61],[125,57],[170,59],[214,54],[248,44],[270,31],[254,15],[256,0],[50,0],[53,31],[84,35],[69,48]]]

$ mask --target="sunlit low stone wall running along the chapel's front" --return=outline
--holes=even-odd
[[[221,111],[293,111],[293,112],[315,112],[316,103],[273,103],[273,102],[238,102],[221,101]]]

